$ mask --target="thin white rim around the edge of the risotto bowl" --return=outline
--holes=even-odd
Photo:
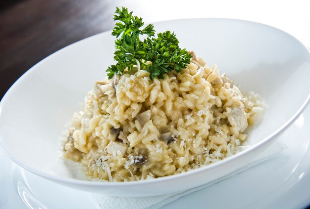
[[[242,20],[242,19],[234,19],[234,18],[184,18],[184,19],[170,19],[170,20],[163,20],[163,21],[156,21],[156,22],[152,22],[152,24],[157,24],[157,23],[165,23],[165,22],[174,22],[174,21],[195,21],[195,20],[205,20],[205,21],[233,21],[233,22],[241,22],[241,23],[250,23],[250,24],[254,24],[254,25],[258,25],[258,26],[263,26],[272,30],[275,30],[277,32],[280,33],[284,33],[286,36],[289,36],[290,38],[295,39],[295,41],[299,42],[302,44],[302,46],[308,51],[308,54],[310,55],[310,49],[309,47],[307,47],[307,45],[304,42],[301,42],[299,39],[297,39],[296,37],[290,35],[289,33],[278,29],[276,27],[267,25],[267,24],[263,24],[263,23],[259,23],[259,22],[255,22],[255,21],[249,21],[249,20]],[[109,31],[105,31],[90,37],[87,37],[85,39],[82,39],[78,42],[74,42],[72,44],[69,44],[55,52],[53,52],[52,54],[50,54],[49,56],[45,57],[44,59],[42,59],[40,62],[38,62],[37,64],[35,64],[33,67],[31,67],[29,70],[27,70],[22,76],[20,76],[12,85],[11,87],[6,91],[6,93],[3,95],[1,101],[0,101],[0,117],[1,117],[1,110],[2,110],[2,106],[5,104],[5,99],[6,97],[8,97],[8,95],[14,93],[14,88],[19,84],[20,80],[22,80],[26,75],[28,75],[29,73],[31,73],[32,71],[36,70],[42,63],[45,62],[46,59],[50,59],[51,57],[53,57],[55,54],[59,53],[62,50],[66,50],[66,48],[71,47],[72,45],[78,44],[79,42],[84,42],[88,39],[94,39],[95,37],[99,37],[99,36],[105,36],[105,34],[110,34],[111,30]],[[291,125],[301,114],[302,112],[306,109],[307,105],[310,103],[310,92],[307,96],[307,98],[304,100],[304,102],[302,103],[302,105],[300,106],[300,108],[295,112],[295,114],[293,114],[293,116],[287,121],[285,122],[283,125],[281,125],[277,130],[275,130],[274,132],[272,132],[271,134],[269,134],[267,137],[263,138],[262,140],[260,140],[258,143],[256,143],[255,145],[241,151],[240,153],[237,153],[233,156],[230,156],[228,158],[225,158],[221,161],[215,162],[215,163],[211,163],[207,166],[204,167],[199,167],[193,170],[189,170],[183,173],[178,173],[178,174],[173,174],[173,175],[169,175],[169,176],[163,176],[163,177],[159,177],[159,178],[154,178],[154,179],[145,179],[145,180],[139,180],[139,181],[127,181],[127,182],[109,182],[109,181],[91,181],[91,180],[80,180],[80,179],[74,179],[74,178],[64,178],[64,177],[58,177],[55,175],[52,175],[50,173],[45,173],[42,172],[40,169],[37,168],[32,168],[32,167],[28,167],[25,166],[21,161],[19,161],[18,159],[15,158],[14,155],[12,155],[12,153],[9,151],[9,149],[5,146],[4,141],[1,137],[1,133],[0,133],[0,148],[3,150],[3,152],[5,153],[5,155],[12,160],[14,163],[16,163],[17,165],[19,165],[20,167],[35,173],[39,176],[42,176],[44,178],[48,178],[50,180],[53,181],[58,181],[58,182],[62,182],[62,183],[69,183],[69,184],[76,184],[76,185],[83,185],[83,186],[95,186],[95,187],[102,187],[102,186],[113,186],[113,187],[124,187],[124,186],[138,186],[138,185],[144,185],[144,184],[154,184],[154,183],[159,183],[159,182],[167,182],[170,181],[172,179],[180,179],[180,178],[184,178],[187,177],[189,175],[194,175],[200,172],[205,172],[208,169],[212,169],[214,167],[221,167],[231,161],[234,161],[236,158],[239,158],[240,156],[245,156],[248,155],[250,152],[253,152],[255,150],[257,150],[261,145],[271,141],[272,139],[274,139],[276,136],[280,135],[289,125]],[[219,176],[220,177],[220,176]]]

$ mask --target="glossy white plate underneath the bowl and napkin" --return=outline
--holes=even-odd
[[[210,187],[184,196],[164,209],[302,209],[310,205],[310,107],[281,137],[287,150]],[[90,193],[52,183],[10,161],[0,151],[0,208],[27,208],[18,198],[18,182],[49,209],[95,209]],[[30,204],[34,201],[25,195]]]

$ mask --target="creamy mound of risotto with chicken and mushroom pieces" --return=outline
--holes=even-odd
[[[181,173],[235,154],[263,111],[216,66],[193,52],[191,63],[164,79],[135,68],[95,83],[75,113],[64,156],[86,175],[133,181]]]

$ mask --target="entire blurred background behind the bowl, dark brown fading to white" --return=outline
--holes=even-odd
[[[11,0],[0,3],[0,99],[28,69],[53,52],[111,30],[116,6],[145,22],[235,18],[277,27],[310,46],[309,0]],[[207,58],[206,58],[207,59]]]

